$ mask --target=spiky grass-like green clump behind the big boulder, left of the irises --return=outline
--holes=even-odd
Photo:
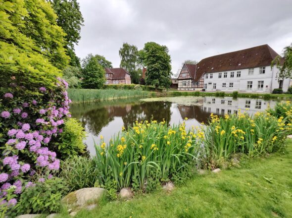
[[[95,186],[97,173],[95,162],[87,157],[72,157],[61,163],[60,177],[64,179],[69,191]]]

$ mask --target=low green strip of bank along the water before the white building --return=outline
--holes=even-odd
[[[168,91],[165,95],[171,96],[220,96],[233,97],[233,93],[224,92],[179,92]],[[265,98],[265,99],[292,99],[292,94],[269,94],[269,93],[238,93],[239,98]]]

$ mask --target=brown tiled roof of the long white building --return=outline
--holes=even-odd
[[[218,54],[202,59],[197,64],[186,64],[192,78],[198,81],[204,73],[269,66],[278,54],[268,45],[236,52]]]

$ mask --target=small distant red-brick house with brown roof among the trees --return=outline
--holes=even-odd
[[[131,84],[131,76],[123,68],[105,68],[105,84]]]

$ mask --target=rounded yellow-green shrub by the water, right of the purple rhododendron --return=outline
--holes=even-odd
[[[56,143],[60,159],[64,160],[70,156],[83,154],[86,151],[83,143],[85,137],[86,132],[81,123],[74,118],[67,119],[59,142]]]

